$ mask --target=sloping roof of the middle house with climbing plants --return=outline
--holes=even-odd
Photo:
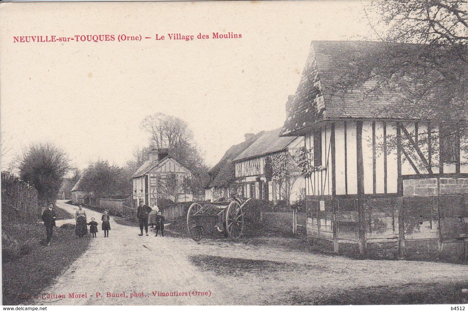
[[[238,155],[234,161],[285,150],[296,137],[279,137],[282,129],[279,128],[263,133],[249,148]]]

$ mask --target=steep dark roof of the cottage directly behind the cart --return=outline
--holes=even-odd
[[[264,132],[261,131],[256,135],[253,135],[249,139],[241,142],[240,144],[231,146],[209,172],[210,183],[208,188],[217,186],[228,186],[231,181],[234,181],[234,164],[232,161],[241,154],[245,149],[252,145],[258,137],[262,136]]]

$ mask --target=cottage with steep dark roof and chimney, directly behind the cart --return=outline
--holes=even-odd
[[[228,198],[238,193],[238,185],[234,181],[234,164],[232,161],[246,148],[252,145],[263,132],[245,134],[245,140],[231,146],[221,160],[208,172],[210,181],[205,189],[205,199],[216,201]]]

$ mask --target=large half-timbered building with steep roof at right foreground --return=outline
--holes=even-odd
[[[281,133],[304,137],[308,151],[307,238],[336,253],[466,261],[466,137],[439,137],[430,120],[386,114],[401,90],[336,87],[342,65],[379,44],[311,44]]]

